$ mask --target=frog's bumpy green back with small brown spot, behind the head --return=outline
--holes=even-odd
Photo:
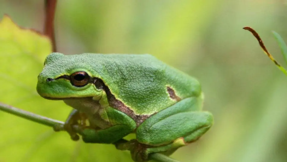
[[[200,95],[199,82],[149,54],[82,54],[116,99],[135,113],[153,114]],[[81,55],[77,55],[81,56]]]

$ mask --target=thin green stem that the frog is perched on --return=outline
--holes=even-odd
[[[37,122],[39,124],[43,124],[52,128],[57,128],[58,131],[65,131],[64,130],[64,122],[63,121],[58,121],[54,120],[51,118],[47,118],[45,116],[37,115],[32,112],[28,112],[25,110],[21,110],[18,108],[15,108],[10,105],[6,105],[0,102],[0,110],[4,112],[8,112],[10,114],[19,116],[21,118],[28,119],[30,121]],[[79,133],[80,129],[77,127],[77,125],[74,125],[74,129]],[[160,154],[160,153],[154,153],[150,155],[150,160],[156,160],[158,162],[179,162],[175,159],[172,159],[170,157],[167,157],[166,155]]]

